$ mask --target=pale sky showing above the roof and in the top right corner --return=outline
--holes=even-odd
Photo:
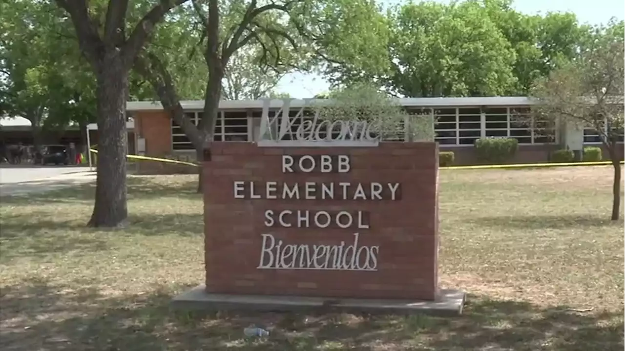
[[[383,6],[401,1],[381,0]],[[439,0],[447,3],[448,0]],[[625,17],[625,0],[516,0],[514,7],[526,14],[546,12],[573,12],[581,23],[606,24],[611,17]],[[277,92],[287,92],[291,97],[303,99],[326,92],[329,85],[317,74],[299,72],[287,74],[278,83]]]

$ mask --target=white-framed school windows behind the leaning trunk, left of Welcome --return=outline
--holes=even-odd
[[[185,116],[195,126],[199,126],[202,112],[186,112]],[[247,141],[247,130],[247,112],[220,111],[215,123],[214,141]],[[171,139],[174,150],[195,149],[183,129],[173,119],[171,120]]]

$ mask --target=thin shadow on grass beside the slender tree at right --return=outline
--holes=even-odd
[[[477,217],[471,222],[501,229],[569,229],[601,228],[616,225],[609,217],[597,215],[514,215]]]

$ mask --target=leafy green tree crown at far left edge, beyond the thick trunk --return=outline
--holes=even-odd
[[[83,74],[76,42],[67,39],[71,26],[53,4],[11,1],[2,6],[1,17],[0,65],[6,74],[0,94],[3,111],[31,121],[38,148],[44,124],[68,116],[70,102],[78,100],[77,82],[85,77],[89,81],[91,75]]]

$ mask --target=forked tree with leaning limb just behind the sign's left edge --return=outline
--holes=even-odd
[[[227,5],[217,0],[192,1],[201,25],[198,45],[208,71],[199,126],[184,116],[178,87],[163,59],[154,52],[139,57],[135,65],[137,71],[151,83],[164,109],[189,137],[196,149],[197,161],[204,160],[204,151],[210,149],[214,139],[222,84],[230,60],[239,49],[259,52],[259,66],[276,72],[294,67],[294,62],[306,62],[297,54],[298,45],[294,38],[299,32],[291,21],[296,12],[307,11],[305,4],[303,0],[271,1],[263,5],[256,0],[239,0]],[[201,187],[200,168],[198,192]]]

